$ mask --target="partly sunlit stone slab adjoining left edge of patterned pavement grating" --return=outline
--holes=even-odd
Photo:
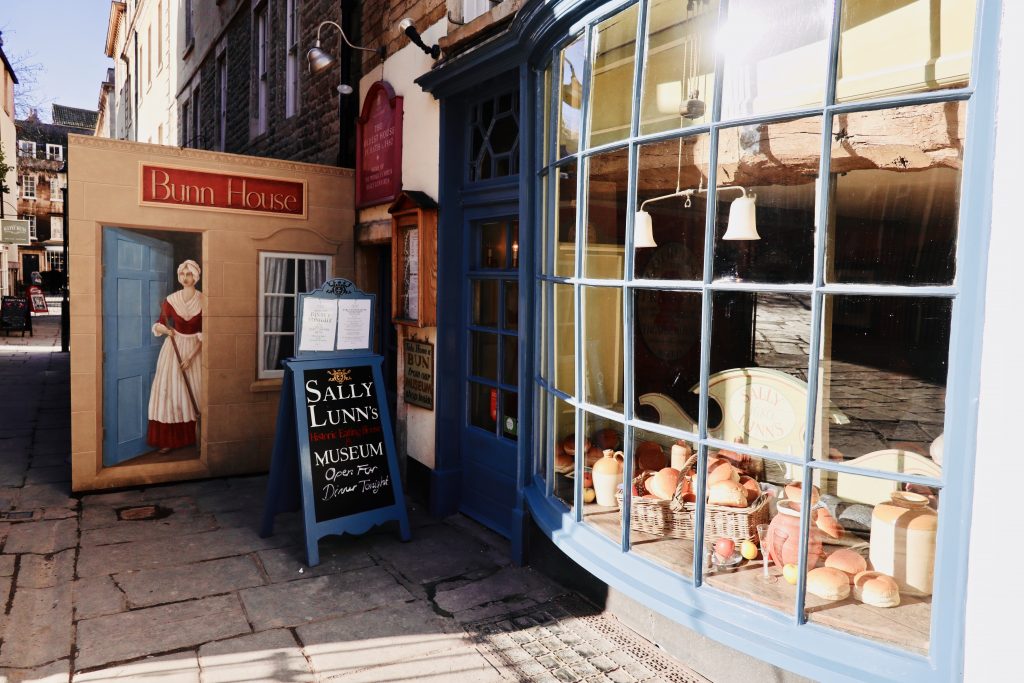
[[[351,674],[470,644],[452,620],[422,601],[385,605],[344,618],[296,629],[303,651],[322,679]]]

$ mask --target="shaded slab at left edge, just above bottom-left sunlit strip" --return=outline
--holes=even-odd
[[[71,617],[70,584],[16,590],[10,613],[0,623],[0,668],[31,669],[70,656]]]

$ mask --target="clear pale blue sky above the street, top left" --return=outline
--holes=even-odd
[[[31,99],[44,121],[53,102],[96,109],[99,84],[114,66],[103,54],[110,9],[111,0],[0,0],[3,50],[15,74],[19,61],[41,68]]]

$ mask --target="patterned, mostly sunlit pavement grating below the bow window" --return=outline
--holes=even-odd
[[[575,595],[465,628],[490,664],[520,683],[710,683]]]

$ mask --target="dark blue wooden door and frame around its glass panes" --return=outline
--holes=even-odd
[[[513,73],[511,82],[516,79]],[[498,79],[497,82],[503,85],[501,89],[508,89],[510,80]],[[520,88],[517,95],[520,104],[523,90]],[[518,346],[519,380],[516,386],[519,442],[492,437],[468,424],[470,348],[467,331],[472,288],[466,275],[472,250],[477,244],[473,226],[487,219],[514,219],[523,224],[520,176],[479,182],[469,180],[468,110],[473,101],[499,91],[498,88],[474,89],[471,96],[441,101],[440,144],[445,154],[440,159],[439,203],[443,210],[438,223],[437,254],[437,377],[440,381],[436,388],[436,461],[430,498],[433,514],[461,511],[506,536],[512,545],[513,558],[521,561],[524,530],[522,441],[529,440],[529,420],[526,418],[531,411],[528,392],[522,392],[523,387],[529,386],[528,380],[523,382],[523,344]],[[524,129],[528,128],[522,119],[520,117],[520,151]],[[518,330],[519,337],[524,339],[528,332],[525,313],[529,309],[522,272],[528,272],[526,264],[530,263],[528,242],[529,238],[520,228]]]

